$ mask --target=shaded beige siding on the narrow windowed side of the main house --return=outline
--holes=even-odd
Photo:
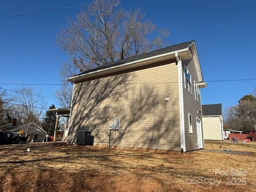
[[[188,69],[191,74],[191,87],[192,94],[185,88],[185,83],[183,83],[183,102],[184,102],[184,124],[185,124],[185,138],[186,138],[186,151],[197,150],[197,127],[196,127],[196,117],[201,120],[202,116],[198,114],[198,110],[201,111],[201,104],[195,99],[195,87],[194,81],[198,82],[198,75],[196,72],[196,66],[194,64],[194,59],[182,60],[182,79],[184,80],[184,66]],[[200,101],[201,102],[201,101]],[[192,130],[193,133],[189,132],[189,120],[188,114],[192,115]],[[202,124],[203,126],[203,124]],[[202,138],[203,131],[202,131]],[[204,139],[203,146],[204,146]]]

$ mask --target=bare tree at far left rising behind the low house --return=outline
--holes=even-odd
[[[46,103],[40,96],[40,92],[36,94],[31,88],[20,88],[15,90],[13,102],[15,103],[15,115],[18,121],[25,125],[25,134],[28,134],[28,124],[40,124],[41,115],[45,110]]]

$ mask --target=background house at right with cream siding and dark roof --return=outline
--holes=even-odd
[[[222,105],[202,105],[204,139],[224,140]]]

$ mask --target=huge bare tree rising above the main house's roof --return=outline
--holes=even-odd
[[[169,35],[168,30],[160,29],[149,39],[156,25],[144,20],[140,10],[120,9],[120,0],[94,2],[76,21],[68,19],[68,28],[58,36],[60,46],[73,58],[72,64],[63,64],[63,76],[156,50]]]

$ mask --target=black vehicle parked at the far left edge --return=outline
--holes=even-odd
[[[20,137],[11,132],[0,132],[0,144],[24,144],[27,137]]]

